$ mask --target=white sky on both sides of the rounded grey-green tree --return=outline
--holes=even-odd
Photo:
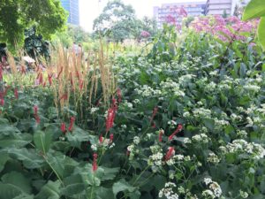
[[[80,26],[86,31],[92,31],[93,20],[99,16],[102,8],[109,0],[79,0]],[[153,17],[153,7],[166,3],[201,2],[203,0],[123,0],[125,4],[133,5],[138,18]],[[206,2],[206,0],[205,0]]]

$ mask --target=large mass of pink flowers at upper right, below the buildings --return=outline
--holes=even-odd
[[[234,40],[245,41],[246,36],[254,35],[258,22],[258,20],[245,22],[234,16],[224,19],[216,15],[199,17],[192,22],[191,26],[198,33],[209,33],[223,42],[232,42]]]

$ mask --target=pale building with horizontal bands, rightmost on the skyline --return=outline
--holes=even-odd
[[[250,0],[208,0],[205,7],[205,14],[222,15],[225,11],[233,15],[236,5],[244,7]]]

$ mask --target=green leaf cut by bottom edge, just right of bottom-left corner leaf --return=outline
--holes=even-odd
[[[46,185],[42,187],[42,190],[35,199],[60,199],[60,186],[61,183],[57,181],[48,181]]]

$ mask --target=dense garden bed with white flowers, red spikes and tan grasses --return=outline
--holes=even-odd
[[[148,53],[111,57],[102,45],[85,62],[59,49],[34,73],[10,56],[0,198],[264,198],[254,28],[237,40],[187,30],[179,42],[165,26]]]

